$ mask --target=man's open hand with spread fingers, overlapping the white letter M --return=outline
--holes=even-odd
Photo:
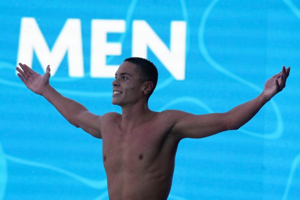
[[[43,76],[26,64],[19,63],[19,66],[23,71],[19,67],[16,67],[16,70],[19,72],[18,76],[22,82],[34,93],[42,95],[43,89],[49,85],[50,65],[47,66],[46,73]]]

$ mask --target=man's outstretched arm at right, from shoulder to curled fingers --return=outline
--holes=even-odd
[[[290,67],[272,76],[266,83],[263,92],[253,100],[243,103],[225,113],[193,115],[177,112],[175,124],[171,130],[180,139],[203,138],[226,130],[237,130],[246,124],[275,94],[285,87]]]

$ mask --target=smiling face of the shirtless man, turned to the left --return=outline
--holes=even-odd
[[[137,103],[143,95],[140,74],[137,73],[136,65],[125,61],[116,72],[116,79],[112,82],[114,105],[128,105]]]

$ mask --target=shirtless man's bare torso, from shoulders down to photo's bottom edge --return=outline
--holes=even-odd
[[[170,113],[125,130],[122,116],[103,115],[103,162],[110,199],[167,199],[179,139],[170,134]]]

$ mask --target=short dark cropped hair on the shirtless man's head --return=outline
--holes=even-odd
[[[151,61],[145,58],[130,57],[130,58],[126,58],[124,62],[125,61],[131,62],[137,66],[137,69],[141,76],[141,82],[146,82],[146,81],[153,82],[153,88],[146,99],[146,101],[148,102],[149,97],[151,96],[151,94],[153,93],[157,85],[157,81],[158,81],[157,68]]]

